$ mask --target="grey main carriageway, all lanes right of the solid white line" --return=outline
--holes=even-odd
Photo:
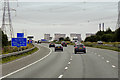
[[[48,47],[48,44],[40,44]],[[74,54],[74,47],[54,52],[46,59],[7,78],[117,78],[117,54],[110,50],[87,48],[86,54]],[[103,52],[99,52],[103,51]],[[104,53],[105,52],[105,53]],[[96,53],[96,54],[95,54]],[[101,53],[101,54],[100,54]],[[98,55],[100,56],[98,56]],[[109,56],[108,56],[109,55]],[[102,59],[102,56],[105,58]],[[113,56],[113,57],[112,57]],[[109,59],[109,62],[106,62]],[[114,62],[114,63],[112,63]]]

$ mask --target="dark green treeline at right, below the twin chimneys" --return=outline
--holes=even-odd
[[[98,31],[94,36],[87,37],[85,42],[120,42],[120,28],[112,31],[108,28],[106,31]]]

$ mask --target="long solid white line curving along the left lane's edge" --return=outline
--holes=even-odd
[[[50,49],[50,48],[49,48],[49,49]],[[11,72],[11,73],[9,73],[9,74],[1,77],[0,80],[3,79],[3,78],[6,78],[6,77],[8,77],[8,76],[10,76],[10,75],[12,75],[12,74],[15,74],[15,73],[17,73],[17,72],[19,72],[19,71],[21,71],[21,70],[23,70],[23,69],[26,69],[26,68],[28,68],[28,67],[30,67],[30,66],[32,66],[32,65],[34,65],[34,64],[36,64],[36,63],[38,63],[38,62],[40,62],[40,61],[42,61],[43,59],[45,59],[46,57],[48,57],[48,56],[51,54],[51,52],[52,52],[52,49],[50,49],[49,54],[46,55],[46,56],[44,56],[43,58],[41,58],[41,59],[39,59],[39,60],[37,60],[37,61],[35,61],[35,62],[33,62],[33,63],[25,66],[25,67],[23,67],[23,68],[20,68],[20,69],[18,69],[18,70],[16,70],[16,71],[13,71],[13,72]]]

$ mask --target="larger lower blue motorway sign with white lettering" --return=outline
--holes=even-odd
[[[27,46],[27,38],[12,38],[12,46]]]

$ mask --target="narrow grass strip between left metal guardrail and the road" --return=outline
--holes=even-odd
[[[2,63],[7,63],[7,62],[10,62],[10,61],[13,61],[13,60],[16,60],[16,59],[19,59],[19,58],[22,58],[24,56],[27,56],[27,55],[30,55],[34,52],[38,51],[38,48],[35,47],[33,50],[29,51],[29,52],[26,52],[26,53],[23,53],[23,54],[20,54],[20,55],[16,55],[16,56],[10,56],[10,57],[6,57],[6,58],[3,58],[1,60]]]

